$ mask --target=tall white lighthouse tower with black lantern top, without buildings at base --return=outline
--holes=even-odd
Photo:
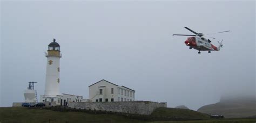
[[[46,77],[45,77],[45,96],[57,96],[59,95],[59,60],[62,57],[60,54],[60,46],[53,39],[48,45],[47,53],[45,53],[47,57],[46,62]]]

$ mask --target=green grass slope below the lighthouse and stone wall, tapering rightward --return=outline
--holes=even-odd
[[[56,112],[39,108],[0,107],[0,122],[143,122],[114,114]]]

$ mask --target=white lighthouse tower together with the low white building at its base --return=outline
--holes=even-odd
[[[59,60],[62,54],[60,54],[60,46],[55,39],[48,45],[48,52],[45,53],[45,56],[47,57],[45,91],[44,95],[40,96],[40,102],[50,105],[55,103],[60,106],[68,105],[69,102],[86,102],[87,100],[82,96],[59,93]]]

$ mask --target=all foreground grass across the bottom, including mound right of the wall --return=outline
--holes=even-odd
[[[201,114],[192,110],[180,110],[176,108],[158,108],[152,113],[152,117],[186,117],[200,118],[198,121],[153,121],[167,122],[255,122],[256,119],[208,119],[207,114]],[[136,120],[116,114],[91,114],[85,112],[57,112],[41,108],[27,107],[0,107],[0,122],[149,122]]]

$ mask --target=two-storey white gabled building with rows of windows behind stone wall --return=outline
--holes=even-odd
[[[102,79],[89,86],[91,102],[130,102],[135,100],[135,91]]]

